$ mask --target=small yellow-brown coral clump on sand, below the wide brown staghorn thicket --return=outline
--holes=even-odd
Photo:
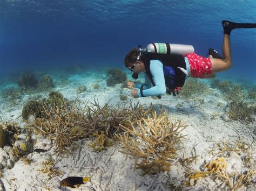
[[[102,131],[100,134],[98,133],[98,131],[95,131],[93,133],[93,136],[95,136],[96,139],[88,146],[92,147],[95,152],[100,152],[111,145],[109,139],[107,139],[107,137],[104,135],[104,131]]]

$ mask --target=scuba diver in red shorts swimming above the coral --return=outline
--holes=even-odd
[[[208,58],[194,53],[191,45],[151,43],[143,49],[139,45],[125,56],[125,67],[133,72],[132,77],[144,73],[145,83],[127,82],[134,98],[157,96],[165,93],[176,95],[183,87],[186,77],[212,78],[217,72],[231,68],[230,33],[233,29],[255,28],[256,24],[222,21],[224,29],[223,57],[209,48]],[[153,85],[153,87],[152,87]],[[167,87],[167,89],[166,89]]]

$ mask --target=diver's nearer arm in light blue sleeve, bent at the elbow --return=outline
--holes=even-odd
[[[157,96],[157,95],[165,94],[166,87],[165,87],[163,64],[159,60],[151,60],[150,71],[156,86],[149,89],[143,88],[144,89],[143,95],[147,97],[147,96]],[[142,97],[142,95],[140,94],[140,91],[138,91],[138,96]]]

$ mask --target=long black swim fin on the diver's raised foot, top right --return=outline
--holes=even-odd
[[[256,23],[234,23],[229,20],[223,20],[221,22],[224,34],[230,35],[233,29],[249,29],[249,28],[256,28]]]

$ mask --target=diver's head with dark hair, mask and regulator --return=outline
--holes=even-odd
[[[138,78],[139,73],[145,72],[143,56],[139,55],[137,48],[131,49],[131,51],[125,56],[124,63],[125,67],[133,72],[132,77],[135,79]]]

